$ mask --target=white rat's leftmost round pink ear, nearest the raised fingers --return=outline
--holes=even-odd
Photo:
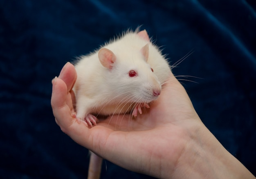
[[[103,67],[112,69],[113,63],[115,63],[116,61],[116,56],[111,50],[101,48],[99,49],[98,56],[99,61],[101,62],[101,65],[103,65]]]

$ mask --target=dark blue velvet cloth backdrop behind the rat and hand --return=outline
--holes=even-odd
[[[88,150],[54,121],[51,80],[67,61],[142,25],[200,118],[256,175],[254,0],[0,0],[0,176],[87,176]],[[161,152],[161,151],[159,151]],[[107,170],[106,170],[107,167]],[[150,178],[103,162],[102,178]]]

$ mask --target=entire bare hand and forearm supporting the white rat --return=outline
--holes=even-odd
[[[52,80],[53,114],[65,134],[100,157],[157,178],[255,178],[204,126],[173,74],[143,114],[110,116],[92,128],[75,118],[75,80],[70,63]]]

